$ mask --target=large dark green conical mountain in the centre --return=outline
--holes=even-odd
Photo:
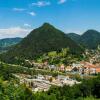
[[[58,51],[69,47],[73,53],[80,53],[81,48],[62,31],[54,26],[45,23],[41,27],[34,29],[20,43],[3,54],[6,61],[13,58],[33,59],[49,51]]]

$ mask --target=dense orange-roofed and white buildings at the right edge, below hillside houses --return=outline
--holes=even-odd
[[[92,64],[89,62],[73,63],[71,67],[68,66],[66,71],[78,72],[79,74],[98,74],[100,73],[100,64]]]

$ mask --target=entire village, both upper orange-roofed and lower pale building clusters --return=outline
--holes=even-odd
[[[92,55],[93,54],[93,55]],[[13,74],[16,78],[19,79],[20,84],[25,84],[32,89],[33,92],[39,91],[48,91],[51,86],[64,86],[69,85],[73,86],[74,84],[80,84],[81,81],[77,80],[75,77],[70,77],[72,74],[79,75],[81,78],[83,76],[95,76],[100,73],[100,60],[99,52],[88,53],[86,51],[86,56],[89,57],[87,61],[80,61],[72,63],[69,66],[61,64],[60,66],[49,64],[48,61],[43,63],[29,62],[34,67],[29,68],[30,70],[35,70],[37,74]],[[41,72],[46,72],[42,74]],[[39,73],[40,72],[40,73]],[[48,72],[57,73],[56,75],[50,74]]]

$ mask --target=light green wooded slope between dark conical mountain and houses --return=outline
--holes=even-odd
[[[48,61],[49,64],[70,65],[73,62],[81,61],[83,55],[75,55],[70,52],[69,48],[62,48],[59,51],[51,51],[36,58],[36,62]]]

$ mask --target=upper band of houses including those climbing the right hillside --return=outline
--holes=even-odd
[[[100,48],[97,50],[86,50],[83,55],[85,60],[75,61],[71,64],[65,65],[61,63],[50,64],[48,60],[44,62],[34,62],[26,60],[31,66],[34,66],[35,69],[43,69],[49,71],[63,72],[63,73],[78,73],[80,75],[96,75],[100,73]]]

